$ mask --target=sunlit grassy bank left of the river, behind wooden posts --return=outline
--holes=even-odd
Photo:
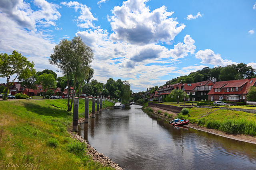
[[[111,169],[93,162],[85,144],[70,137],[67,100],[0,102],[0,169]],[[90,101],[90,110],[92,102]],[[102,107],[113,106],[105,101]],[[79,101],[84,117],[84,100]],[[28,167],[29,166],[29,167]],[[14,168],[13,167],[13,168]]]

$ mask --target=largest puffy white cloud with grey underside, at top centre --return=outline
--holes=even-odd
[[[114,33],[110,35],[113,41],[125,41],[130,44],[144,45],[148,43],[170,43],[184,29],[171,18],[174,12],[167,12],[166,7],[149,10],[148,0],[127,0],[122,6],[115,6],[113,16],[109,16]]]

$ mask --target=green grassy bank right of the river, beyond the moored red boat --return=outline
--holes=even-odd
[[[177,106],[177,103],[165,104]],[[166,118],[168,117],[166,116]],[[183,115],[182,113],[178,113],[174,118],[189,119],[190,123],[196,123],[209,129],[218,129],[230,134],[244,134],[256,137],[256,114],[254,113],[220,110],[219,108],[207,109],[193,107],[189,109],[188,114]]]

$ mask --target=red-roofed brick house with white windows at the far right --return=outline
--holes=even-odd
[[[216,82],[208,93],[208,100],[246,102],[250,86],[256,86],[256,78]]]

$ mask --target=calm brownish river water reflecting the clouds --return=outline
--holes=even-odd
[[[126,170],[256,170],[255,144],[173,127],[140,108],[104,110],[78,134]]]

